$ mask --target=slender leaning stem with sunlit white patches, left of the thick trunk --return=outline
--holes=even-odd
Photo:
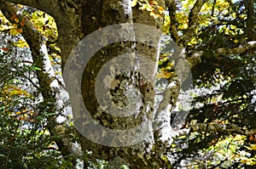
[[[44,98],[44,103],[47,105],[47,112],[55,113],[55,115],[49,115],[49,125],[47,125],[47,129],[52,136],[58,136],[61,133],[55,128],[55,125],[58,124],[55,121],[55,118],[62,112],[64,104],[61,98],[61,87],[56,80],[55,72],[50,64],[44,37],[26,16],[18,14],[18,11],[20,10],[18,6],[14,3],[2,4],[3,14],[5,14],[5,17],[10,22],[14,23],[14,20],[11,19],[13,14],[16,14],[16,17],[19,20],[23,20],[24,26],[20,25],[22,28],[22,36],[26,39],[26,42],[31,49],[33,63],[40,68],[40,70],[37,70],[38,83]],[[61,150],[62,155],[71,154],[72,148],[70,144],[73,143],[69,142],[67,139],[63,140],[58,137],[55,138],[55,142]]]

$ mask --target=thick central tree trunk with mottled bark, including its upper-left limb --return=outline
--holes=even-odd
[[[159,54],[162,18],[154,19],[147,10],[143,11],[138,7],[131,10],[131,0],[82,1],[82,3],[72,0],[44,2],[10,0],[9,2],[22,3],[42,10],[46,8],[45,11],[55,18],[59,31],[58,45],[61,48],[62,70],[66,68],[71,51],[83,37],[89,36],[93,31],[104,29],[105,26],[116,26],[110,31],[110,35],[92,37],[95,38],[91,39],[92,42],[110,41],[110,43],[108,46],[102,46],[89,60],[84,69],[81,85],[84,104],[90,111],[90,116],[102,127],[113,132],[110,132],[112,135],[106,135],[104,132],[100,135],[99,132],[90,132],[90,136],[84,135],[84,131],[92,129],[90,124],[86,123],[89,115],[84,116],[83,110],[80,114],[74,113],[75,125],[77,127],[80,125],[78,130],[81,132],[82,149],[91,150],[94,160],[99,158],[110,161],[117,168],[123,164],[131,168],[170,168],[166,157],[163,157],[166,148],[161,149],[162,145],[158,141],[168,142],[170,139],[168,136],[164,137],[164,134],[168,134],[167,131],[172,129],[166,105],[172,101],[175,103],[175,100],[165,100],[166,103],[161,104],[159,112],[154,109],[154,75]],[[164,6],[163,1],[158,3]],[[119,41],[116,37],[124,38],[125,41]],[[83,43],[81,45],[79,49],[83,52],[81,48]],[[79,53],[81,51],[74,51],[73,54],[84,54]],[[123,63],[119,59],[123,59]],[[76,58],[72,61],[73,68],[69,67],[70,71],[76,72],[81,63]],[[97,85],[98,73],[101,73],[101,69],[106,65],[110,69],[103,71],[103,76],[100,77],[102,85]],[[123,69],[126,66],[128,70]],[[68,86],[71,84],[68,81],[71,81],[73,76],[66,77]],[[95,87],[98,88],[95,90]],[[177,95],[178,87],[174,88]],[[100,93],[99,91],[107,92],[111,102],[103,99],[99,103],[96,98],[96,93]],[[79,107],[76,99],[76,96],[73,97],[71,94],[73,110]],[[119,107],[119,111],[127,109],[135,114],[125,117],[109,115],[108,110],[111,110],[113,105]],[[137,130],[129,132],[133,127],[137,127]],[[157,134],[154,134],[154,127],[158,130]],[[127,135],[126,132],[115,132],[119,130],[128,131]],[[88,138],[96,138],[102,142],[98,143]],[[84,164],[86,167],[86,161]]]

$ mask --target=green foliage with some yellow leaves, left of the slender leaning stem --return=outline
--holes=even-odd
[[[19,35],[1,34],[0,166],[1,168],[67,168],[47,130],[48,115],[38,90],[31,54]]]

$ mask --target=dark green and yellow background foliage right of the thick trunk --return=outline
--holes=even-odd
[[[186,52],[205,51],[201,64],[192,69],[195,82],[194,109],[186,126],[196,123],[218,123],[223,127],[242,130],[255,128],[255,49],[243,54],[216,55],[218,48],[237,48],[255,40],[255,8],[252,20],[248,16],[249,1],[209,1],[201,8],[196,35],[186,45]],[[182,1],[177,11],[177,30],[183,35],[188,27],[189,9],[195,1]],[[253,22],[253,23],[251,23]],[[163,31],[168,35],[170,17],[166,16]],[[253,35],[252,35],[253,32]],[[172,62],[165,65],[162,72]],[[177,112],[178,113],[178,112]],[[173,144],[174,166],[188,168],[222,168],[255,166],[255,135],[241,136],[236,132],[194,132]],[[186,147],[186,148],[184,148]],[[190,161],[190,162],[189,162]]]

